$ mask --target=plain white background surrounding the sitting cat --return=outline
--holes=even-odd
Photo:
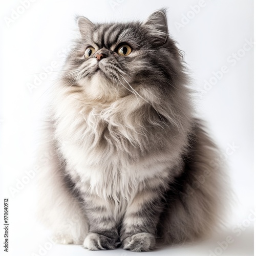
[[[247,46],[246,52],[242,50],[246,40],[253,41],[253,1],[205,0],[198,13],[191,8],[202,3],[198,0],[36,0],[27,4],[27,9],[22,8],[21,2],[2,3],[0,19],[0,167],[2,197],[9,198],[10,254],[134,255],[122,249],[90,252],[80,246],[51,244],[33,216],[35,177],[25,176],[34,168],[40,113],[47,101],[47,89],[54,84],[74,37],[75,15],[93,22],[143,20],[154,10],[167,7],[169,33],[185,52],[193,88],[202,92],[205,80],[216,80],[213,72],[227,67],[228,72],[212,88],[195,95],[195,102],[199,116],[207,121],[223,152],[220,157],[228,163],[235,202],[227,228],[218,236],[195,245],[150,253],[210,255],[211,250],[216,253],[212,255],[253,255],[253,223],[248,220],[253,210],[253,46]],[[15,15],[13,10],[20,14]],[[178,28],[178,23],[182,27]],[[237,53],[240,57],[234,62],[232,54]],[[57,67],[45,73],[44,68],[52,61]],[[31,89],[39,75],[44,80]],[[230,144],[236,146],[231,154],[227,150]],[[236,232],[238,229],[241,232]],[[228,235],[233,243],[225,249],[218,248],[218,242],[225,241]],[[45,251],[41,249],[44,246]],[[1,245],[1,252],[3,249]]]

